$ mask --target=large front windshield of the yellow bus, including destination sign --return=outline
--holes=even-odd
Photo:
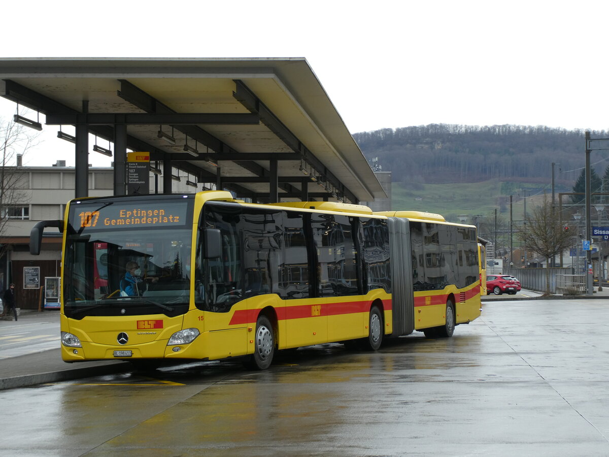
[[[72,202],[64,259],[66,316],[188,310],[192,200]]]

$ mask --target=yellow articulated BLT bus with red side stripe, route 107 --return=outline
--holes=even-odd
[[[215,360],[449,337],[480,315],[476,227],[331,202],[247,204],[226,191],[75,199],[64,221],[66,362]]]

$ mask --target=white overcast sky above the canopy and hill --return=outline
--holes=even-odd
[[[607,1],[30,0],[1,14],[0,57],[305,57],[351,133],[609,130]],[[45,130],[27,165],[51,165],[49,151],[74,165]]]

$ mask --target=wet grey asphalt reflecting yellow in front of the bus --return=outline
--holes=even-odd
[[[608,320],[607,299],[485,300],[451,339],[376,353],[319,345],[264,372],[121,364],[5,389],[0,455],[606,456]]]

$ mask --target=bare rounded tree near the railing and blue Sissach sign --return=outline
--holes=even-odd
[[[549,294],[550,259],[571,246],[571,233],[558,220],[547,196],[544,196],[541,205],[533,208],[526,218],[526,224],[516,230],[526,249],[546,258],[546,294]]]

